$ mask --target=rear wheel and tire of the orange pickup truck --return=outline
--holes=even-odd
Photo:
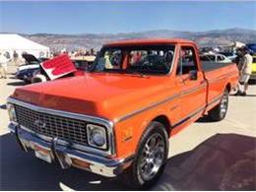
[[[228,91],[225,89],[222,96],[221,102],[215,106],[212,110],[209,111],[209,116],[214,121],[221,121],[226,115],[228,107]]]

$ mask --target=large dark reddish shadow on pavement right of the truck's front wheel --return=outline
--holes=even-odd
[[[154,190],[255,190],[255,160],[256,138],[217,134],[169,159]]]

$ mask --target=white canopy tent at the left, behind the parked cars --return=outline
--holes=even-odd
[[[16,51],[19,58],[24,52],[30,53],[35,57],[49,57],[50,49],[19,34],[0,33],[0,52],[9,53],[13,58]]]

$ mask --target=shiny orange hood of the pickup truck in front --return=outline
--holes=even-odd
[[[115,119],[166,96],[166,77],[86,73],[16,89],[35,105]],[[169,81],[168,81],[169,82]]]

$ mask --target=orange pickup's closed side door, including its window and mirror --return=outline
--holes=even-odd
[[[206,104],[206,83],[203,72],[198,68],[193,46],[181,46],[176,71],[180,88],[181,119],[192,118],[203,110]]]

